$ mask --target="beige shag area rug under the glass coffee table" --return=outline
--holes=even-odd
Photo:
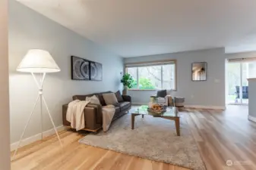
[[[88,134],[79,142],[194,170],[206,169],[182,115],[180,137],[176,135],[174,121],[152,116],[136,116],[131,130],[128,114],[113,122],[106,133]]]

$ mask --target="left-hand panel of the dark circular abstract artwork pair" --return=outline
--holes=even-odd
[[[71,79],[90,80],[90,60],[71,56]]]

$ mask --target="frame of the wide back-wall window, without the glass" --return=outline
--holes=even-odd
[[[139,71],[138,68],[141,66],[161,66],[161,89],[163,89],[163,65],[173,64],[174,68],[174,88],[167,89],[167,90],[177,90],[177,62],[176,60],[160,60],[160,61],[153,61],[153,62],[141,62],[141,63],[125,63],[125,73],[128,73],[128,68],[137,68],[137,88],[128,88],[129,91],[156,91],[156,89],[140,89],[139,88]]]

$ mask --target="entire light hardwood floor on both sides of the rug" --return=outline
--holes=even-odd
[[[256,123],[248,121],[247,107],[229,106],[225,111],[185,109],[181,113],[207,170],[256,169]],[[19,150],[11,169],[188,170],[79,144],[83,135],[71,131],[62,131],[60,136],[62,149],[55,136],[37,141]],[[228,167],[227,160],[234,165]]]

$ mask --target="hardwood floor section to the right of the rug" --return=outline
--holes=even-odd
[[[183,113],[207,170],[256,169],[256,123],[248,121],[248,107],[185,109]],[[227,166],[227,160],[233,165]]]

